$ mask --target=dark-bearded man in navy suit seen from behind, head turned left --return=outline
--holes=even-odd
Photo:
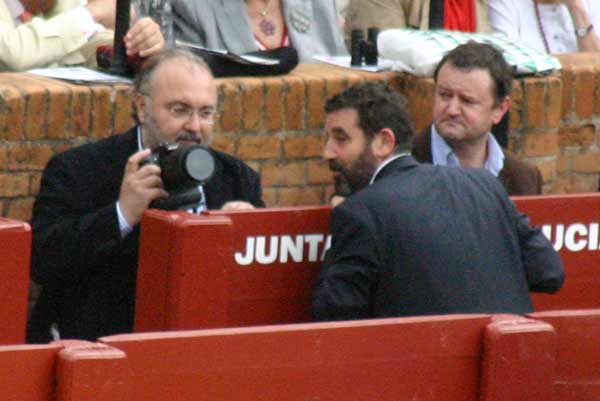
[[[526,313],[530,290],[562,286],[558,254],[493,175],[410,155],[400,95],[360,84],[325,110],[323,157],[348,197],[332,210],[316,320]]]

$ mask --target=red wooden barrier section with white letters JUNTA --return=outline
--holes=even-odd
[[[329,210],[147,212],[135,331],[310,321]]]

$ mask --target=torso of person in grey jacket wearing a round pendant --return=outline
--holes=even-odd
[[[173,0],[175,37],[241,54],[293,46],[301,62],[346,49],[336,0]]]

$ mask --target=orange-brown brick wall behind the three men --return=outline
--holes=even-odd
[[[593,191],[600,175],[596,120],[600,70],[593,55],[561,57],[562,73],[515,82],[509,147],[538,165],[544,191]],[[404,93],[417,130],[431,119],[433,82],[406,74],[302,65],[270,78],[220,79],[215,147],[260,172],[269,206],[324,203],[331,176],[320,161],[323,104],[363,80]],[[127,86],[82,86],[0,74],[0,215],[28,220],[48,159],[131,127]]]

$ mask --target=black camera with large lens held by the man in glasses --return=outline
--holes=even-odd
[[[156,164],[161,169],[161,179],[167,199],[155,199],[151,208],[162,210],[187,210],[203,199],[200,185],[207,182],[215,171],[211,151],[202,145],[161,143],[140,164]]]

